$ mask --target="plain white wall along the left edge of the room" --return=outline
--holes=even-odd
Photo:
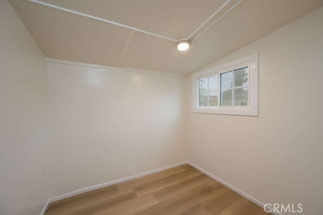
[[[39,214],[47,200],[45,58],[0,1],[0,214]]]

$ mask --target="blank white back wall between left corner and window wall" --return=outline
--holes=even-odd
[[[185,161],[185,79],[48,62],[50,197]]]

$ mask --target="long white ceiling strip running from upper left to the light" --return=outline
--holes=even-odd
[[[121,23],[117,23],[117,22],[114,22],[114,21],[111,21],[111,20],[106,20],[106,19],[102,19],[102,18],[95,17],[95,16],[92,16],[92,15],[84,14],[84,13],[81,13],[81,12],[78,12],[78,11],[73,11],[73,10],[63,8],[63,7],[60,7],[60,6],[44,3],[44,2],[41,2],[41,1],[38,1],[38,0],[28,0],[28,1],[32,2],[32,3],[35,3],[35,4],[38,4],[38,5],[47,6],[49,8],[54,8],[54,9],[57,9],[57,10],[60,10],[60,11],[65,11],[65,12],[68,12],[68,13],[72,13],[72,14],[76,14],[76,15],[79,15],[79,16],[87,17],[87,18],[90,18],[90,19],[98,20],[98,21],[101,21],[101,22],[104,22],[104,23],[109,23],[109,24],[116,25],[116,26],[119,26],[119,27],[131,29],[131,30],[138,31],[138,32],[141,32],[141,33],[145,33],[145,34],[149,34],[151,36],[163,38],[163,39],[170,40],[170,41],[173,41],[173,42],[178,42],[179,41],[177,39],[173,39],[173,38],[170,38],[170,37],[167,37],[167,36],[159,35],[159,34],[152,33],[152,32],[149,32],[149,31],[145,31],[145,30],[142,30],[142,29],[139,29],[139,28],[135,28],[135,27],[131,27],[131,26],[128,26],[128,25],[121,24]]]

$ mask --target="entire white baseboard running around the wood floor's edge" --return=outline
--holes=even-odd
[[[91,191],[91,190],[99,189],[99,188],[102,188],[102,187],[111,186],[111,185],[118,184],[118,183],[121,183],[121,182],[129,181],[129,180],[136,179],[136,178],[140,178],[142,176],[146,176],[146,175],[150,175],[150,174],[153,174],[153,173],[157,173],[157,172],[160,172],[160,171],[163,171],[163,170],[171,169],[171,168],[174,168],[174,167],[183,165],[183,164],[189,164],[189,165],[191,165],[192,167],[194,167],[197,170],[201,171],[205,175],[207,175],[210,178],[218,181],[219,183],[221,183],[224,186],[228,187],[229,189],[235,191],[236,193],[239,193],[241,196],[243,196],[246,199],[252,201],[253,203],[259,205],[260,207],[263,207],[264,206],[264,203],[260,202],[259,200],[255,199],[254,197],[246,194],[245,192],[239,190],[238,188],[232,186],[231,184],[228,184],[227,182],[223,181],[222,179],[220,179],[220,178],[218,178],[218,177],[210,174],[209,172],[207,172],[207,171],[203,170],[202,168],[196,166],[192,162],[190,162],[190,161],[183,161],[183,162],[180,162],[180,163],[177,163],[177,164],[172,164],[172,165],[169,165],[169,166],[166,166],[166,167],[163,167],[163,168],[151,170],[151,171],[144,172],[144,173],[141,173],[141,174],[138,174],[138,175],[134,175],[134,176],[130,176],[130,177],[126,177],[126,178],[122,178],[122,179],[118,179],[118,180],[115,180],[115,181],[106,182],[106,183],[103,183],[103,184],[98,184],[98,185],[94,185],[94,186],[90,186],[90,187],[85,187],[83,189],[79,189],[79,190],[76,190],[76,191],[73,191],[73,192],[70,192],[70,193],[66,193],[66,194],[63,194],[63,195],[59,195],[59,196],[55,196],[55,197],[49,198],[47,200],[46,204],[44,205],[44,207],[43,207],[40,215],[43,215],[44,214],[44,212],[46,211],[46,209],[47,209],[47,207],[48,207],[48,205],[49,205],[50,202],[58,201],[58,200],[61,200],[61,199],[64,199],[64,198],[68,198],[68,197],[71,197],[71,196],[74,196],[74,195],[77,195],[77,194],[81,194],[81,193],[88,192],[88,191]],[[267,208],[268,209],[272,209],[270,207],[267,207]],[[274,212],[274,214],[275,215],[283,215],[280,212]]]

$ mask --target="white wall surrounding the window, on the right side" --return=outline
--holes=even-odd
[[[189,160],[263,203],[322,214],[322,38],[319,9],[209,65],[259,53],[259,116],[190,112]]]

